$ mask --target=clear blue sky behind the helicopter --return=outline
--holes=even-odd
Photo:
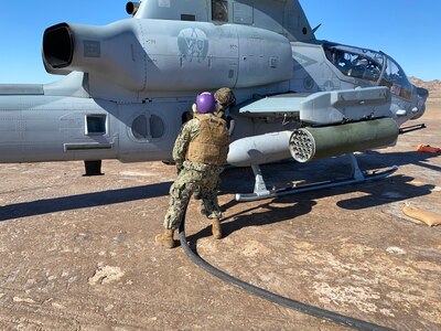
[[[60,22],[107,24],[128,18],[122,0],[21,0],[0,4],[0,83],[49,83],[44,30]],[[441,79],[441,1],[301,0],[318,39],[380,50],[407,75]]]

